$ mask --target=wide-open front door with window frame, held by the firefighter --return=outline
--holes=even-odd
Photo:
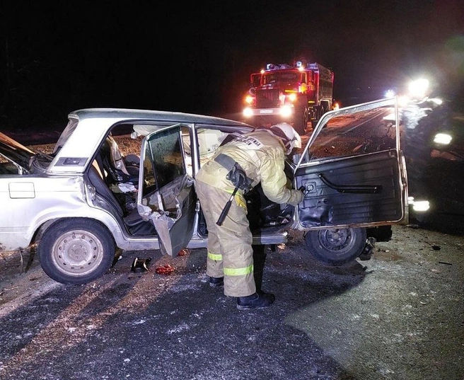
[[[294,159],[299,229],[407,222],[407,176],[396,98],[326,113]]]

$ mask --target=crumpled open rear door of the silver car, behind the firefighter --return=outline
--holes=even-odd
[[[148,134],[141,146],[137,209],[150,220],[163,253],[175,256],[192,238],[197,197],[187,173],[182,126]]]

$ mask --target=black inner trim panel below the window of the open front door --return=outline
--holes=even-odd
[[[394,150],[300,168],[296,183],[298,188],[306,189],[305,198],[298,205],[298,219],[305,228],[402,218],[401,183]]]

